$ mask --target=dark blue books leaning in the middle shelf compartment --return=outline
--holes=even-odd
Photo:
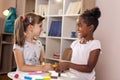
[[[61,21],[52,21],[49,29],[48,36],[61,36]]]

